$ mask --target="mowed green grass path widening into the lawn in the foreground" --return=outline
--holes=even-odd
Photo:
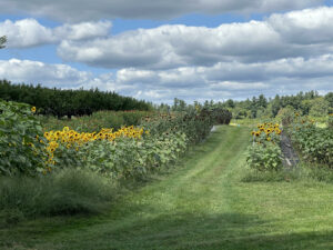
[[[242,182],[248,144],[249,129],[220,127],[179,169],[108,214],[22,222],[0,229],[0,241],[48,250],[333,249],[333,184]]]

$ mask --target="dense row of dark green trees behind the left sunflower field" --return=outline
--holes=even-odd
[[[100,110],[150,110],[151,104],[115,92],[49,89],[40,84],[12,84],[0,80],[0,98],[37,107],[38,113],[63,116],[92,114]]]

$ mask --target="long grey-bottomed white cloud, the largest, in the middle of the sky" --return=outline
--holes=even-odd
[[[87,42],[63,41],[58,54],[67,61],[104,68],[168,69],[268,54],[272,49],[283,49],[279,39],[266,23],[258,21],[214,29],[162,26]]]

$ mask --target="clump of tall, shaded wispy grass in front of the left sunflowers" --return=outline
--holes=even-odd
[[[115,184],[91,171],[68,169],[34,178],[0,177],[0,211],[4,219],[16,222],[22,219],[19,217],[22,214],[101,212],[115,197]]]

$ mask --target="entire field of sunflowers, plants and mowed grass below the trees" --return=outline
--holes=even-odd
[[[1,249],[333,248],[332,116],[0,110]]]

